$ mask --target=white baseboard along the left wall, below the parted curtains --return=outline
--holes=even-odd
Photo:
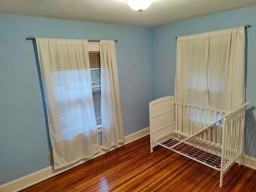
[[[125,137],[125,144],[131,143],[132,141],[135,141],[137,139],[140,139],[146,135],[149,135],[149,127],[142,129],[136,133],[132,133],[131,135],[128,135]],[[121,145],[122,146],[122,145]],[[120,146],[119,146],[120,147]],[[112,148],[111,150],[114,150],[115,148]],[[96,155],[94,155],[93,158],[96,158],[97,156],[100,156],[102,154],[106,153],[105,151],[100,149],[100,152]],[[78,166],[79,164],[84,163],[85,161],[81,160],[80,162],[77,162],[76,164],[72,164],[70,166],[67,166],[65,168],[60,168],[58,170],[54,170],[53,166],[48,166],[42,170],[39,170],[37,172],[28,174],[26,176],[23,176],[21,178],[18,178],[16,180],[13,180],[11,182],[8,182],[6,184],[0,185],[0,191],[1,192],[16,192],[18,190],[22,190],[24,188],[27,188],[29,186],[32,186],[40,181],[43,181],[47,178],[50,178],[54,175],[60,174],[61,172],[64,172],[70,168],[73,168],[75,166]]]

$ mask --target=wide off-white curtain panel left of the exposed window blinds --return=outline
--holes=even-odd
[[[36,38],[54,169],[92,158],[99,139],[87,40]]]

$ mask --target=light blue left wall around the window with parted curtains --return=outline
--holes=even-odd
[[[0,184],[50,166],[33,41],[47,38],[116,40],[125,135],[149,126],[152,101],[151,29],[0,15]]]

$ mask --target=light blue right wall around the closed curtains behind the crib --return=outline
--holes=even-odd
[[[174,95],[176,39],[208,31],[221,30],[250,24],[246,31],[246,110],[245,152],[256,158],[256,6],[184,20],[152,29],[153,50],[153,97],[157,99]]]

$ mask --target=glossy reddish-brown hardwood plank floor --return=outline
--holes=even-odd
[[[256,192],[256,170],[237,163],[224,174],[161,146],[149,136],[21,192]]]

